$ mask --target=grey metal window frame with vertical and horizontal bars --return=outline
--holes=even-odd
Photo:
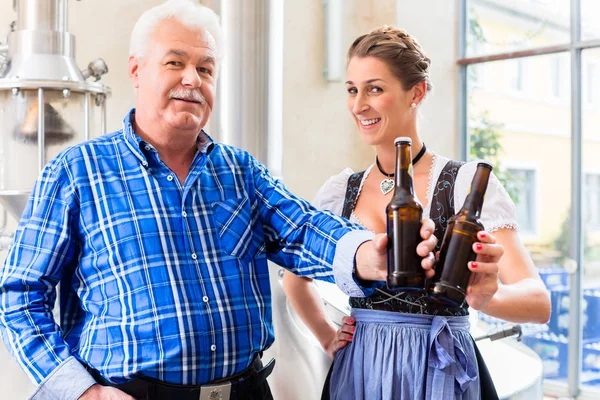
[[[581,33],[581,0],[570,0],[570,40],[552,46],[532,47],[526,50],[508,51],[484,56],[467,57],[467,3],[469,0],[459,0],[459,59],[458,64],[458,132],[459,132],[459,158],[466,160],[469,154],[469,126],[468,126],[468,66],[487,63],[491,61],[526,58],[537,55],[568,52],[570,54],[571,70],[571,204],[582,204],[583,171],[582,171],[582,118],[585,99],[582,96],[582,52],[586,49],[600,48],[600,38],[582,40]],[[594,93],[592,96],[596,96]],[[545,381],[545,391],[557,396],[578,396],[579,399],[600,399],[600,392],[589,390],[581,384],[582,365],[582,333],[581,324],[582,298],[583,298],[583,221],[582,207],[571,207],[570,232],[572,259],[579,266],[571,274],[571,312],[570,326],[574,329],[569,339],[569,365],[567,384]]]

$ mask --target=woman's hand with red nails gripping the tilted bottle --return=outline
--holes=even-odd
[[[479,242],[473,243],[477,259],[469,263],[471,280],[467,288],[467,303],[475,310],[484,308],[498,291],[498,261],[504,254],[502,245],[489,232],[477,234]]]

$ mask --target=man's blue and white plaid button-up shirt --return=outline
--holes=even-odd
[[[352,260],[370,233],[204,133],[180,183],[134,133],[133,113],[46,166],[6,258],[2,337],[39,385],[34,397],[77,398],[94,383],[82,364],[113,383],[243,370],[274,339],[267,259],[327,281],[334,268],[360,290]]]

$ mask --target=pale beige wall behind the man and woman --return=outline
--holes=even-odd
[[[214,1],[214,0],[211,0]],[[204,3],[210,4],[207,0]],[[240,0],[241,1],[241,0]],[[127,76],[132,24],[160,0],[71,1],[69,31],[77,38],[77,61],[84,67],[101,57],[109,67],[102,81],[112,88],[108,101],[109,131],[119,129],[134,105]],[[457,0],[402,1],[400,26],[415,35],[433,60],[435,90],[422,108],[421,134],[437,152],[456,154],[457,142]],[[396,1],[346,0],[345,46],[382,24],[396,23]],[[15,18],[12,1],[0,2],[0,32]],[[432,29],[432,26],[435,29]],[[355,170],[373,162],[346,109],[343,82],[323,79],[324,21],[322,0],[284,3],[283,178],[288,187],[312,199],[320,185],[346,166]],[[14,226],[14,221],[11,221]],[[4,254],[0,253],[3,261]],[[284,341],[285,338],[279,338]],[[33,390],[0,345],[2,398],[25,399]]]

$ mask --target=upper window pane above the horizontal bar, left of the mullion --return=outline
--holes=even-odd
[[[569,15],[569,0],[467,0],[467,57],[568,43]]]

